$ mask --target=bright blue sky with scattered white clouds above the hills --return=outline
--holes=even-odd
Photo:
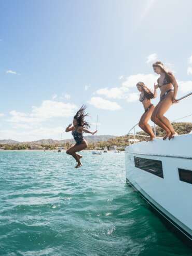
[[[177,98],[191,92],[191,9],[190,0],[1,1],[0,139],[72,138],[64,130],[82,104],[91,131],[98,115],[98,135],[127,134],[144,112],[136,83],[153,88],[157,60],[174,73]],[[188,97],[166,116],[191,106]]]

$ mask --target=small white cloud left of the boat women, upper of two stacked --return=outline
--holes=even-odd
[[[114,87],[111,89],[108,88],[101,88],[96,91],[98,95],[106,96],[107,98],[111,99],[122,99],[124,98],[125,92],[127,92],[129,89],[126,87]]]

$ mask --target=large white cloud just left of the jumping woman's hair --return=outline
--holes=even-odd
[[[32,106],[32,112],[29,114],[17,112],[15,110],[11,111],[9,122],[36,124],[53,117],[73,116],[75,109],[77,109],[77,106],[71,103],[44,100],[39,107]]]

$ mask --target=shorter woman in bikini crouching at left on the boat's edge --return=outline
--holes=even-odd
[[[141,92],[140,94],[140,101],[143,103],[145,112],[141,116],[139,127],[141,127],[142,130],[144,130],[147,134],[149,134],[150,139],[149,141],[153,141],[155,138],[154,132],[150,125],[148,124],[148,120],[153,114],[153,111],[155,109],[154,105],[150,102],[150,99],[154,99],[157,96],[156,93],[156,87],[154,89],[154,93],[150,91],[143,82],[139,82],[136,84],[136,87]]]

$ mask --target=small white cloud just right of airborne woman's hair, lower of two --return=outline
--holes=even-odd
[[[100,97],[92,97],[90,101],[88,101],[89,104],[93,105],[94,107],[97,107],[97,109],[103,109],[103,110],[120,110],[121,106],[114,101],[105,100]]]

